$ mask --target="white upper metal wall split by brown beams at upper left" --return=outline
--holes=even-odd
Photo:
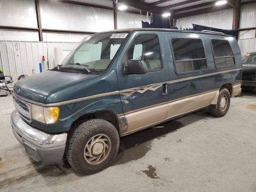
[[[112,7],[110,0],[83,0]],[[43,29],[101,32],[114,29],[113,10],[39,0]],[[142,16],[146,20],[146,16]],[[140,14],[118,12],[118,28],[142,27]],[[34,0],[0,0],[0,26],[37,28]],[[88,34],[43,32],[48,42],[80,42]],[[39,41],[37,31],[0,29],[0,40]]]

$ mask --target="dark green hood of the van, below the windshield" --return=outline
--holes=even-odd
[[[14,84],[14,94],[44,104],[79,98],[86,93],[77,92],[93,74],[77,74],[48,70],[26,77]],[[88,93],[87,93],[88,94]]]

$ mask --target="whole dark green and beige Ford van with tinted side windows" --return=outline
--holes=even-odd
[[[119,139],[209,108],[225,116],[241,92],[233,36],[124,29],[84,38],[61,65],[14,84],[14,136],[36,161],[66,156],[80,174],[108,167]]]

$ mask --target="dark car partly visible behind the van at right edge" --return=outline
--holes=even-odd
[[[242,58],[242,88],[256,92],[256,52],[246,54]]]

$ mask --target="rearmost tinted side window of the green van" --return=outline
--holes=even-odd
[[[216,68],[235,64],[234,55],[227,40],[212,39],[211,43]]]

